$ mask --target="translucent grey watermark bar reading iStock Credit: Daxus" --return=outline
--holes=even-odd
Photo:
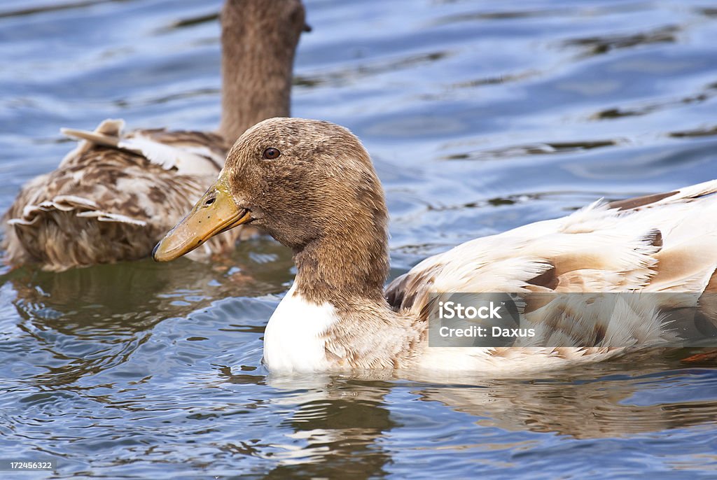
[[[717,294],[432,293],[429,347],[717,347]]]

